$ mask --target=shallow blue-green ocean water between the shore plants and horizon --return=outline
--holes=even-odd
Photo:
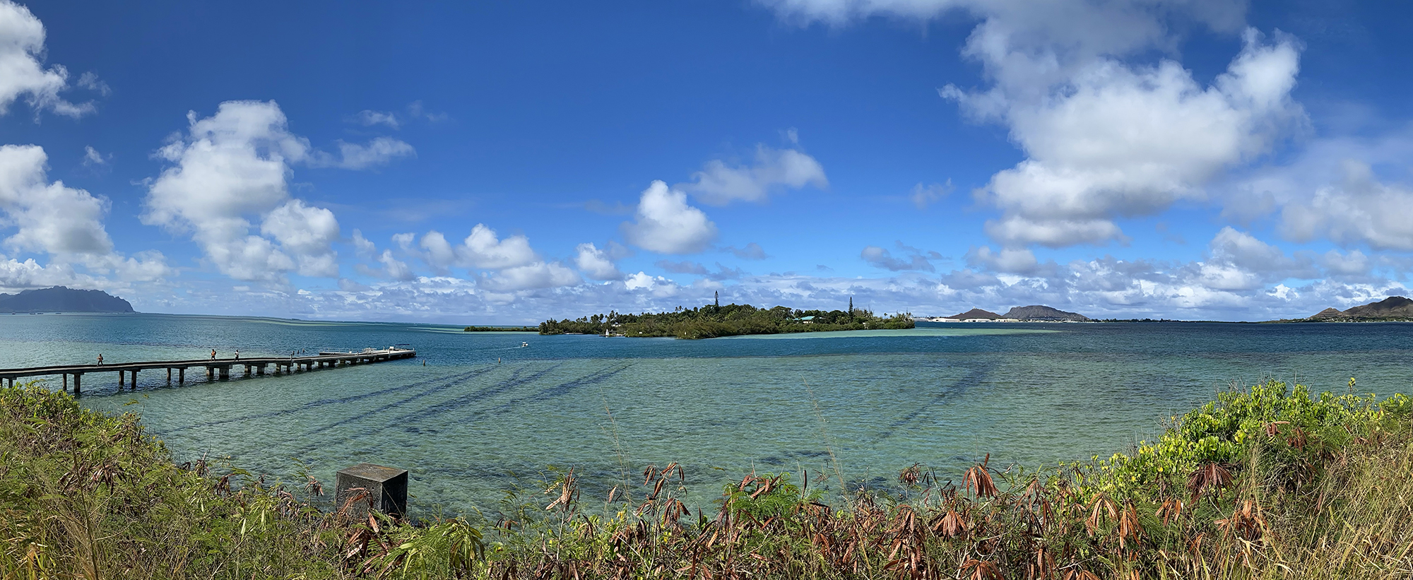
[[[1399,323],[923,323],[706,341],[158,314],[0,315],[0,368],[410,344],[415,361],[185,385],[148,371],[136,390],[92,373],[81,400],[141,413],[178,463],[229,458],[287,482],[304,465],[329,485],[363,461],[407,468],[421,514],[493,512],[551,468],[572,467],[592,502],[677,461],[706,505],[752,471],[886,488],[914,463],[948,478],[988,454],[993,467],[1108,456],[1266,378],[1413,392],[1413,325]]]

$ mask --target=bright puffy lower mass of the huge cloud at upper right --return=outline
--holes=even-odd
[[[1133,68],[1099,59],[1044,99],[999,96],[1000,115],[1029,158],[983,190],[1003,212],[986,232],[1006,245],[1122,239],[1115,218],[1200,198],[1221,171],[1266,153],[1282,127],[1303,119],[1289,98],[1299,48],[1290,38],[1263,44],[1252,30],[1243,40],[1242,52],[1207,88],[1171,61]],[[947,93],[974,112],[998,99],[995,91]]]

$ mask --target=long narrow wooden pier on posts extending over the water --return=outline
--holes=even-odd
[[[172,371],[177,371],[177,383],[187,382],[187,369],[189,368],[203,368],[206,369],[206,381],[226,381],[230,378],[232,366],[243,366],[244,375],[252,373],[263,376],[266,369],[274,366],[274,373],[278,375],[281,369],[285,373],[292,373],[295,371],[314,371],[318,368],[333,368],[345,365],[359,365],[370,362],[396,361],[403,358],[415,358],[417,351],[411,348],[389,347],[384,349],[363,349],[362,352],[319,352],[312,356],[252,356],[252,358],[211,358],[211,359],[192,359],[192,361],[150,361],[150,362],[114,362],[107,365],[57,365],[57,366],[31,366],[18,369],[0,369],[0,381],[8,381],[10,386],[14,386],[14,379],[21,379],[27,376],[64,376],[64,390],[69,389],[69,378],[73,378],[73,393],[78,395],[82,389],[82,376],[103,372],[117,372],[117,388],[122,389],[124,381],[129,379],[129,385],[137,389],[137,372],[151,371],[151,369],[167,369],[167,382],[172,382]]]

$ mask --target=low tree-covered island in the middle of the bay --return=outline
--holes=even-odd
[[[820,332],[838,330],[900,330],[913,328],[913,315],[907,313],[879,317],[865,308],[855,308],[849,298],[849,310],[794,310],[784,306],[756,308],[750,304],[726,304],[721,301],[699,308],[682,308],[670,313],[593,314],[578,320],[547,320],[540,323],[540,334],[609,334],[615,337],[677,337],[715,338],[743,334]]]

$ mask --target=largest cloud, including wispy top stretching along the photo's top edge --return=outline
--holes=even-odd
[[[999,122],[1027,158],[996,173],[979,198],[1000,209],[988,235],[1007,248],[1123,239],[1115,219],[1150,215],[1234,166],[1270,151],[1304,112],[1290,99],[1300,44],[1242,34],[1226,71],[1202,86],[1171,59],[1171,21],[1242,27],[1243,3],[1019,0],[766,0],[781,17],[842,25],[869,16],[979,23],[962,51],[982,64],[979,91],[941,95]]]

